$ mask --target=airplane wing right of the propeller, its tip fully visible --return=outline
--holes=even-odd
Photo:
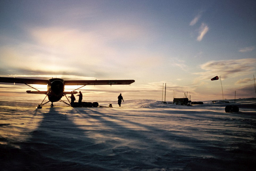
[[[123,80],[65,80],[64,85],[129,85],[132,79]]]

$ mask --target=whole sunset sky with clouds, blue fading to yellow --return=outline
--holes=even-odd
[[[255,0],[1,0],[0,23],[0,77],[135,80],[82,89],[98,98],[161,100],[163,83],[167,101],[256,97]]]

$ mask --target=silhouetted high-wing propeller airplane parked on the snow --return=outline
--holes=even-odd
[[[51,106],[53,106],[53,102],[61,101],[67,105],[71,105],[71,102],[67,98],[66,94],[76,94],[75,90],[78,90],[86,85],[129,85],[133,82],[135,82],[132,79],[126,79],[126,80],[64,80],[61,78],[51,78],[51,79],[29,79],[29,78],[10,78],[10,77],[0,77],[0,82],[3,83],[20,83],[25,84],[37,91],[26,91],[30,94],[45,94],[45,98],[48,97],[47,102],[44,102],[44,100],[41,102],[41,104],[38,104],[37,108],[42,108],[42,105],[45,105],[48,102],[52,102]],[[47,85],[47,91],[39,91],[38,89],[30,86],[29,84],[40,84],[40,85]],[[75,89],[71,92],[65,92],[64,87],[65,85],[83,85],[78,89]],[[61,98],[65,96],[69,102],[69,104]]]

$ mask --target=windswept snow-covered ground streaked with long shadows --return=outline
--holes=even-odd
[[[256,98],[237,100],[238,113],[210,101],[37,104],[0,101],[0,170],[255,170]]]

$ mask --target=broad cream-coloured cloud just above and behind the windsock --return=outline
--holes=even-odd
[[[221,75],[221,78],[237,77],[251,74],[256,70],[256,59],[231,59],[222,61],[209,61],[200,65],[203,72],[194,73],[201,75],[200,79],[210,79],[210,75]]]

